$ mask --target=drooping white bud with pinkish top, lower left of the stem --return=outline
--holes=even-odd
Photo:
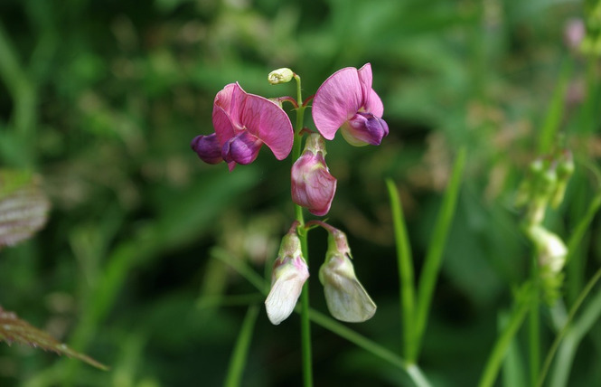
[[[301,242],[296,231],[289,231],[277,253],[271,274],[271,290],[265,300],[269,321],[277,326],[295,309],[309,269],[303,258]]]

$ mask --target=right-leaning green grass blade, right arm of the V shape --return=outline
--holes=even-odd
[[[448,187],[446,188],[445,197],[443,203],[438,212],[437,222],[432,233],[432,239],[430,240],[426,260],[424,263],[424,269],[419,277],[418,285],[418,305],[416,314],[416,325],[415,325],[415,340],[417,342],[415,356],[417,359],[419,355],[419,347],[421,345],[422,338],[427,326],[427,317],[429,314],[430,303],[432,296],[434,295],[434,288],[437,285],[438,271],[440,270],[440,264],[442,263],[443,250],[446,245],[446,237],[450,230],[451,221],[455,214],[455,207],[457,205],[457,197],[459,196],[459,188],[461,187],[461,177],[464,172],[465,165],[465,148],[462,148],[456,159],[455,165],[453,165],[453,172],[449,181]]]

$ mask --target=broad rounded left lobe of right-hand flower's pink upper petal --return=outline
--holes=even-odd
[[[333,139],[344,121],[362,107],[362,99],[357,69],[347,67],[334,72],[315,93],[311,108],[315,127],[322,136]]]

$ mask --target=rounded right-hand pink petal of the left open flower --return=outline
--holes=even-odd
[[[283,160],[290,154],[294,130],[290,118],[276,103],[247,94],[240,113],[240,122],[244,127],[263,141],[278,160]]]

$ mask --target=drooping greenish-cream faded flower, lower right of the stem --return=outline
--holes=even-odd
[[[376,304],[355,275],[346,235],[334,228],[329,231],[328,250],[319,269],[328,310],[334,318],[348,323],[369,320],[376,313]]]

